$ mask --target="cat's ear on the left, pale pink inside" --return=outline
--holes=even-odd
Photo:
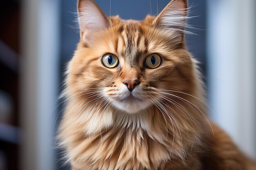
[[[108,27],[108,18],[93,0],[78,0],[78,21],[80,38],[88,43],[92,40],[92,33]]]

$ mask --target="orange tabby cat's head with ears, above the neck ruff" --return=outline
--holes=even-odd
[[[172,0],[143,21],[107,17],[92,0],[79,0],[78,11],[81,41],[67,71],[70,95],[83,91],[137,113],[178,99],[179,92],[196,92],[195,65],[184,43],[186,0]]]

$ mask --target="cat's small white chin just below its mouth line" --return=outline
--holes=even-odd
[[[134,113],[141,112],[141,110],[145,110],[150,106],[151,103],[147,101],[141,101],[141,100],[123,100],[123,101],[113,100],[112,104],[116,108],[126,113],[134,114]]]

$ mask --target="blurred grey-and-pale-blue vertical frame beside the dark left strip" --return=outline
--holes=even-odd
[[[58,93],[59,0],[22,0],[20,169],[54,170],[53,110]]]

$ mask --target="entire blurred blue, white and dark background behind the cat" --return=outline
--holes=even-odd
[[[95,2],[107,15],[143,20],[169,0]],[[209,114],[256,159],[256,1],[189,4],[197,29],[186,42],[200,61]],[[0,170],[69,169],[54,145],[63,71],[79,41],[74,13],[76,0],[1,1]]]

